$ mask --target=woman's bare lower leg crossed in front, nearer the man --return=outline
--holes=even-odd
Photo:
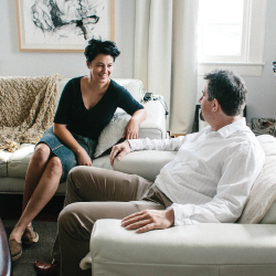
[[[60,179],[62,176],[62,163],[57,157],[51,157],[46,163],[46,167],[42,173],[41,179],[36,187],[30,184],[30,191],[33,192],[24,208],[24,211],[19,219],[19,222],[14,226],[10,234],[10,240],[21,242],[21,236],[24,233],[25,227],[30,222],[39,214],[39,212],[46,205],[57,190]],[[28,192],[30,192],[28,191]]]

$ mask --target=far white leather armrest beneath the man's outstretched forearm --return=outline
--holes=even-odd
[[[149,181],[155,181],[160,170],[173,160],[177,151],[140,150],[132,151],[118,161],[114,161],[114,170],[129,174],[138,174]]]

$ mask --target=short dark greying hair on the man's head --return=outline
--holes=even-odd
[[[208,100],[217,99],[227,116],[240,115],[245,106],[247,87],[243,78],[232,71],[215,70],[205,74]]]

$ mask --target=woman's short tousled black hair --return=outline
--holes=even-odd
[[[92,39],[85,47],[84,55],[86,61],[91,63],[98,54],[112,55],[115,61],[120,51],[113,41],[103,41],[102,39]]]

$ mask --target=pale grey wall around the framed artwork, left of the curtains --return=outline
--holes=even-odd
[[[113,77],[132,77],[135,0],[115,0],[115,41],[121,51]],[[0,1],[0,75],[86,75],[83,53],[20,52],[15,0]]]

